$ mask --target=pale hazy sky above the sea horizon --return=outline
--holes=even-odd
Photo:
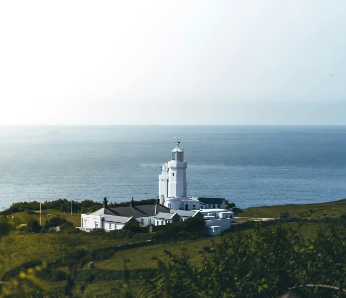
[[[346,124],[345,0],[1,1],[0,41],[0,124]]]

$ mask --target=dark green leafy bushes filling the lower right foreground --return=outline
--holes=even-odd
[[[158,275],[137,288],[138,297],[265,298],[290,288],[304,297],[345,297],[345,222],[321,228],[309,242],[288,225],[261,227],[257,224],[255,234],[224,237],[199,268],[190,264],[184,250],[182,258],[166,251],[170,261],[159,261]]]

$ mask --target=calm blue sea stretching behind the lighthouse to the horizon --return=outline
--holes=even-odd
[[[157,197],[174,136],[190,196],[241,208],[346,197],[346,126],[0,126],[0,210]]]

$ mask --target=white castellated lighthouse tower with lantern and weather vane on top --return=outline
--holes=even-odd
[[[179,147],[179,140],[175,137],[175,148],[172,150],[172,160],[162,165],[159,176],[160,204],[168,208],[179,209],[181,198],[186,197],[186,168],[184,151]]]

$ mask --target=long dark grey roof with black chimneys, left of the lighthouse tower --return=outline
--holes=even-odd
[[[134,207],[117,207],[117,208],[107,208],[104,214],[107,215],[118,215],[118,216],[125,216],[125,217],[148,217],[148,216],[154,216],[155,215],[155,205],[139,205]],[[104,208],[103,208],[104,209]],[[102,209],[102,210],[103,210]],[[157,213],[169,213],[169,208],[158,204],[157,206]]]

